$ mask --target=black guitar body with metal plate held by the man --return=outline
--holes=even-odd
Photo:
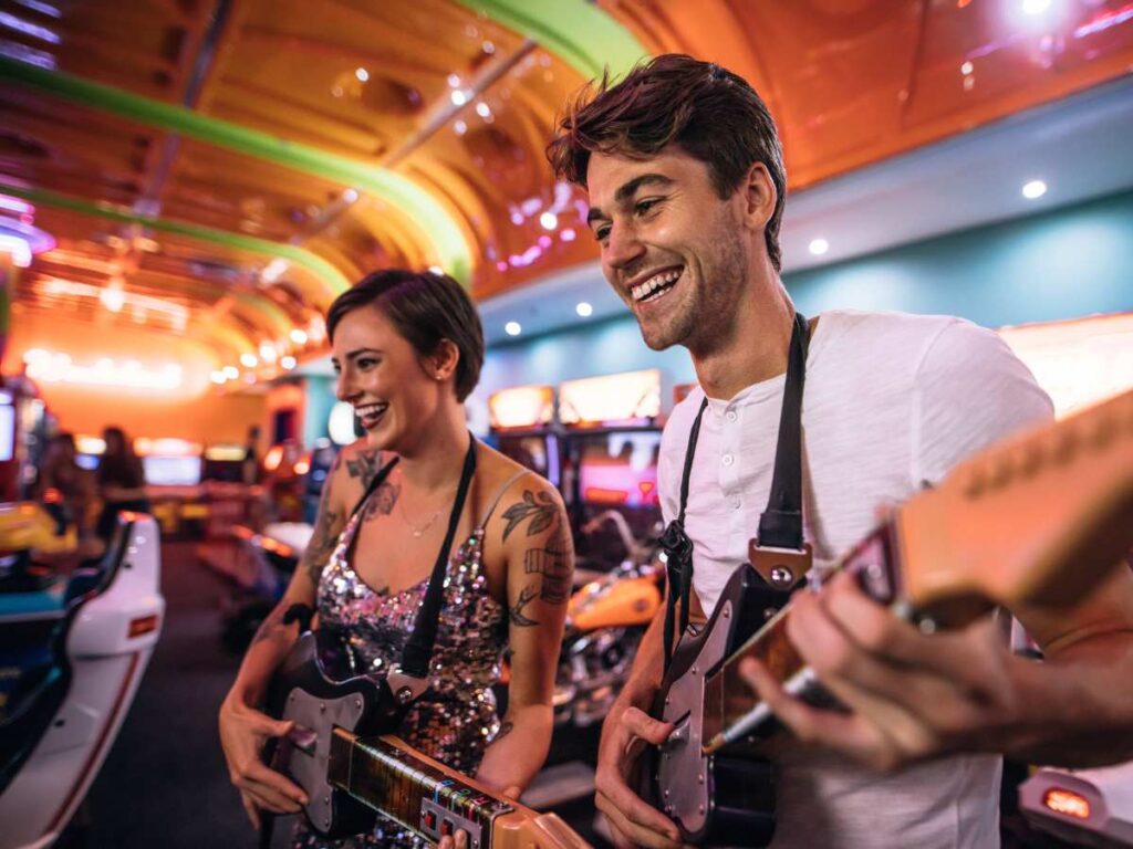
[[[750,755],[705,755],[702,746],[722,719],[705,710],[719,704],[718,694],[707,692],[708,674],[764,625],[781,598],[751,566],[740,566],[704,628],[681,640],[657,691],[653,715],[675,729],[664,745],[648,749],[646,794],[688,843],[763,847],[775,832],[772,764]]]

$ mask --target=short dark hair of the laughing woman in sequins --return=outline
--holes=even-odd
[[[393,323],[419,357],[436,353],[443,340],[460,351],[457,363],[457,400],[463,402],[476,388],[484,365],[484,328],[471,299],[446,274],[408,272],[400,268],[374,272],[334,299],[326,311],[326,334],[343,316],[360,307],[375,306]]]

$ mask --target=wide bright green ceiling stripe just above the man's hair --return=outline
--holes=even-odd
[[[457,0],[559,55],[587,79],[623,76],[649,51],[589,0]]]

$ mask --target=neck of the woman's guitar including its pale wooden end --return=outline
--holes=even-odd
[[[426,840],[448,822],[469,831],[470,849],[590,849],[554,814],[539,814],[423,755],[397,737],[361,738],[335,728],[329,779]]]

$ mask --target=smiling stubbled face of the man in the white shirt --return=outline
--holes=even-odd
[[[740,192],[721,199],[708,165],[673,145],[648,160],[596,153],[587,186],[603,273],[646,344],[726,344],[748,274]]]

